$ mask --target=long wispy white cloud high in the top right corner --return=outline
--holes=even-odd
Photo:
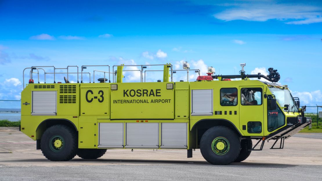
[[[224,21],[267,21],[276,19],[286,24],[311,24],[322,22],[322,8],[301,4],[276,4],[272,2],[237,3],[213,16]]]

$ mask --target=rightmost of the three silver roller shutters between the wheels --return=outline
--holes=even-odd
[[[187,148],[187,123],[161,123],[161,148]]]

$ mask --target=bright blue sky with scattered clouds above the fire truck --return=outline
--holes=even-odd
[[[235,74],[246,62],[247,73],[278,69],[280,83],[302,104],[322,105],[320,1],[2,0],[0,24],[0,99],[20,99],[22,71],[31,66],[172,63],[181,69],[187,61],[202,73],[213,66],[216,74]],[[137,72],[125,76],[139,80]],[[160,77],[147,74],[150,81]],[[185,77],[178,72],[174,79]],[[192,73],[190,81],[195,78]]]

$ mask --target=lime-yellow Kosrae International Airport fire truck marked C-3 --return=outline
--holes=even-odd
[[[93,82],[85,83],[83,74],[90,72],[84,69],[91,66],[107,70],[94,70]],[[139,67],[135,71],[140,82],[122,82],[123,71],[134,70],[123,70],[128,66]],[[152,66],[163,67],[163,81],[145,82],[146,69]],[[29,67],[24,69],[30,70],[30,80],[21,93],[21,131],[52,161],[76,155],[96,159],[115,148],[186,149],[189,158],[192,150],[200,149],[209,163],[224,165],[262,150],[266,140],[275,141],[272,149],[281,149],[284,139],[311,123],[304,116],[306,106],[300,108],[289,88],[277,83],[277,70],[249,75],[245,64],[241,66],[239,75],[214,75],[212,67],[207,75],[194,70],[199,76],[190,82],[173,82],[176,71],[192,71],[187,62],[183,70],[174,70],[172,64],[114,65],[112,72],[109,65],[83,65],[80,73],[78,66]],[[77,72],[70,72],[71,67]],[[44,83],[39,81],[42,71]],[[95,72],[104,78],[95,82]],[[64,83],[56,83],[59,73],[67,75]],[[77,83],[70,83],[71,73],[77,74]],[[46,83],[48,74],[53,83]]]

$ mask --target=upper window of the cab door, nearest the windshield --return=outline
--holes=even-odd
[[[263,102],[263,90],[261,88],[242,88],[241,103],[244,106],[261,105]]]

